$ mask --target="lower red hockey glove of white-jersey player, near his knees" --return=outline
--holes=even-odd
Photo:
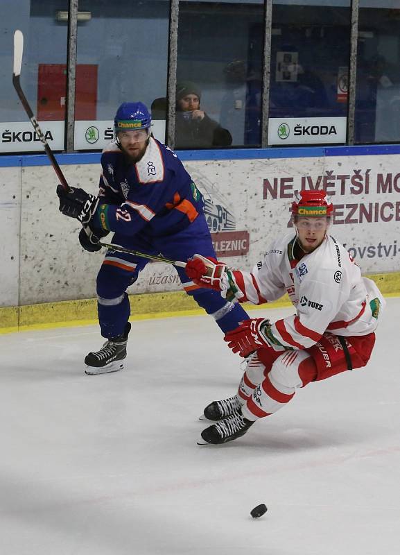
[[[233,352],[238,352],[243,358],[261,347],[270,346],[266,336],[266,330],[270,327],[270,321],[265,318],[252,318],[245,320],[232,332],[227,332],[225,341]]]

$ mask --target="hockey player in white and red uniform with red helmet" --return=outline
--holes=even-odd
[[[328,234],[332,212],[324,191],[301,191],[292,205],[295,232],[277,239],[252,272],[200,255],[186,265],[193,282],[228,300],[260,305],[287,292],[296,308],[275,323],[253,318],[226,334],[229,347],[250,358],[238,393],[206,407],[205,417],[217,422],[198,443],[243,436],[256,420],[284,407],[296,388],[367,364],[385,300]]]

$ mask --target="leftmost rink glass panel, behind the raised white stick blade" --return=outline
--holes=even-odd
[[[42,151],[33,127],[12,86],[13,35],[24,34],[21,85],[37,119],[51,128],[55,150],[64,148],[66,99],[67,23],[59,22],[57,12],[68,9],[67,0],[1,0],[0,2],[0,127],[1,153]],[[53,73],[63,77],[55,80]],[[51,123],[50,123],[51,122]],[[3,133],[14,133],[9,140]],[[36,137],[37,138],[37,137]]]

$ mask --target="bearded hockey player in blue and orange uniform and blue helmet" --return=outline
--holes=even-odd
[[[114,119],[115,139],[103,151],[98,196],[58,186],[60,212],[82,223],[80,244],[100,250],[98,241],[114,232],[112,242],[150,255],[187,260],[195,253],[215,257],[203,214],[203,200],[182,162],[150,133],[151,116],[141,102],[121,104]],[[130,332],[130,302],[125,292],[147,260],[107,250],[97,276],[98,319],[107,341],[85,358],[87,374],[123,368]],[[238,303],[196,286],[184,268],[182,285],[225,333],[248,318]]]

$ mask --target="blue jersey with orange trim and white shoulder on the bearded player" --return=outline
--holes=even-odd
[[[96,228],[150,237],[184,230],[203,212],[203,200],[170,148],[150,137],[144,157],[132,164],[116,142],[101,155]]]

